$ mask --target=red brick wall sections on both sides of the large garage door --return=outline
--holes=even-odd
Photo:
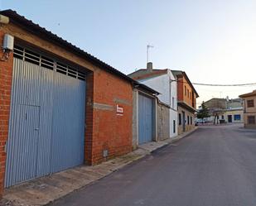
[[[0,31],[0,45],[3,35]],[[0,56],[2,57],[2,50],[0,50]],[[0,61],[0,197],[3,191],[6,162],[4,145],[8,136],[12,63],[12,55],[7,62]],[[132,151],[132,102],[133,89],[128,81],[115,74],[109,74],[103,69],[95,69],[88,74],[85,106],[86,164],[94,165],[103,161],[105,149],[109,150],[108,158]],[[104,104],[111,109],[95,108],[94,103]],[[123,107],[123,116],[117,115],[117,104]]]

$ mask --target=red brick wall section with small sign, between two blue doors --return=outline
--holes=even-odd
[[[109,151],[108,158],[132,151],[133,89],[128,81],[104,70],[94,72],[87,82],[90,83],[92,79],[94,96],[87,96],[86,115],[91,115],[88,109],[92,110],[93,118],[87,118],[86,122],[85,160],[88,164],[94,165],[104,160],[104,150]],[[91,89],[89,84],[87,89]],[[87,95],[89,92],[91,91],[87,91]],[[104,106],[99,108],[95,104]],[[117,115],[117,104],[123,107],[123,116]],[[89,134],[91,132],[92,135]],[[86,142],[92,143],[92,147],[86,146]],[[86,156],[88,153],[91,154],[91,159]]]

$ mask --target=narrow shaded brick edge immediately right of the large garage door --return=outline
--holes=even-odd
[[[92,147],[94,131],[94,73],[86,75],[86,108],[85,108],[85,164],[92,165]]]

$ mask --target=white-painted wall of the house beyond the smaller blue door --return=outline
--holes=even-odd
[[[170,108],[170,137],[177,136],[177,84],[175,77],[168,69],[167,74],[160,76],[142,79],[139,82],[147,85],[148,87],[157,90],[160,94],[157,96],[162,103],[166,103]],[[173,130],[173,121],[176,123],[175,132]]]

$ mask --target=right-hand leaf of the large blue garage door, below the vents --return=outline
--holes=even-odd
[[[85,81],[56,74],[54,88],[51,173],[81,165],[85,146]]]

